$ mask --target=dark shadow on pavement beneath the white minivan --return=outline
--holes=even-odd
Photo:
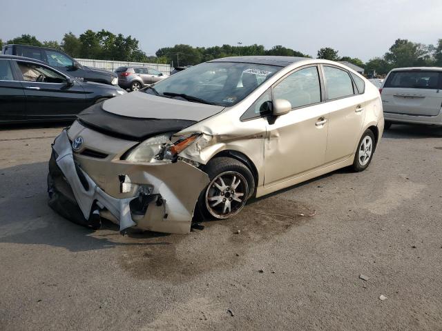
[[[442,138],[441,126],[424,126],[419,124],[393,124],[389,130],[384,130],[383,138],[392,139],[423,139]]]

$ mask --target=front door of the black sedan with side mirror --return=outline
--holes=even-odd
[[[28,119],[72,119],[88,106],[83,87],[39,63],[17,61],[26,95]]]

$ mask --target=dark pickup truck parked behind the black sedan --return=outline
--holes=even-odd
[[[3,46],[2,53],[44,61],[49,66],[57,68],[57,70],[68,74],[70,77],[75,77],[79,81],[95,81],[108,85],[118,84],[117,75],[114,72],[81,66],[75,59],[60,50],[14,44]]]

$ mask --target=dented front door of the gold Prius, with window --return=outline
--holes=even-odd
[[[302,67],[273,86],[273,101],[285,99],[292,110],[269,121],[265,143],[265,186],[323,165],[327,147],[328,108],[318,66]]]

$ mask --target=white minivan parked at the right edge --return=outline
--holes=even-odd
[[[381,88],[385,128],[392,123],[442,126],[442,68],[396,68]]]

